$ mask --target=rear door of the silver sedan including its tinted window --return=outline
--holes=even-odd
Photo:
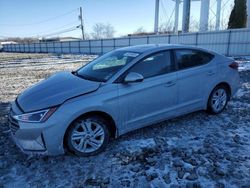
[[[204,100],[217,73],[213,58],[212,54],[200,50],[175,50],[179,83],[178,106],[182,113],[204,107]]]

